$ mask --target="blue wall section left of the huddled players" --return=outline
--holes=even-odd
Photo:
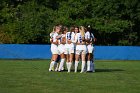
[[[3,59],[50,59],[50,45],[0,44]]]

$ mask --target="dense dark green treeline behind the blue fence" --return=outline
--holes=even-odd
[[[48,44],[56,24],[91,25],[96,45],[140,45],[140,1],[0,0],[0,43]]]

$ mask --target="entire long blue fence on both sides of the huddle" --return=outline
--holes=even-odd
[[[140,60],[139,46],[95,46],[98,60]],[[50,59],[50,45],[0,44],[1,59]]]

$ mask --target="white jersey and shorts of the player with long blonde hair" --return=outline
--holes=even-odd
[[[81,43],[81,45],[76,45],[76,54],[86,54],[87,53],[87,47],[86,45],[82,45],[82,36],[81,33],[77,33],[75,36],[75,41],[78,43]]]

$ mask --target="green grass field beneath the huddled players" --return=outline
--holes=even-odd
[[[95,73],[67,73],[49,72],[49,60],[0,60],[0,93],[140,93],[140,61],[95,65]]]

